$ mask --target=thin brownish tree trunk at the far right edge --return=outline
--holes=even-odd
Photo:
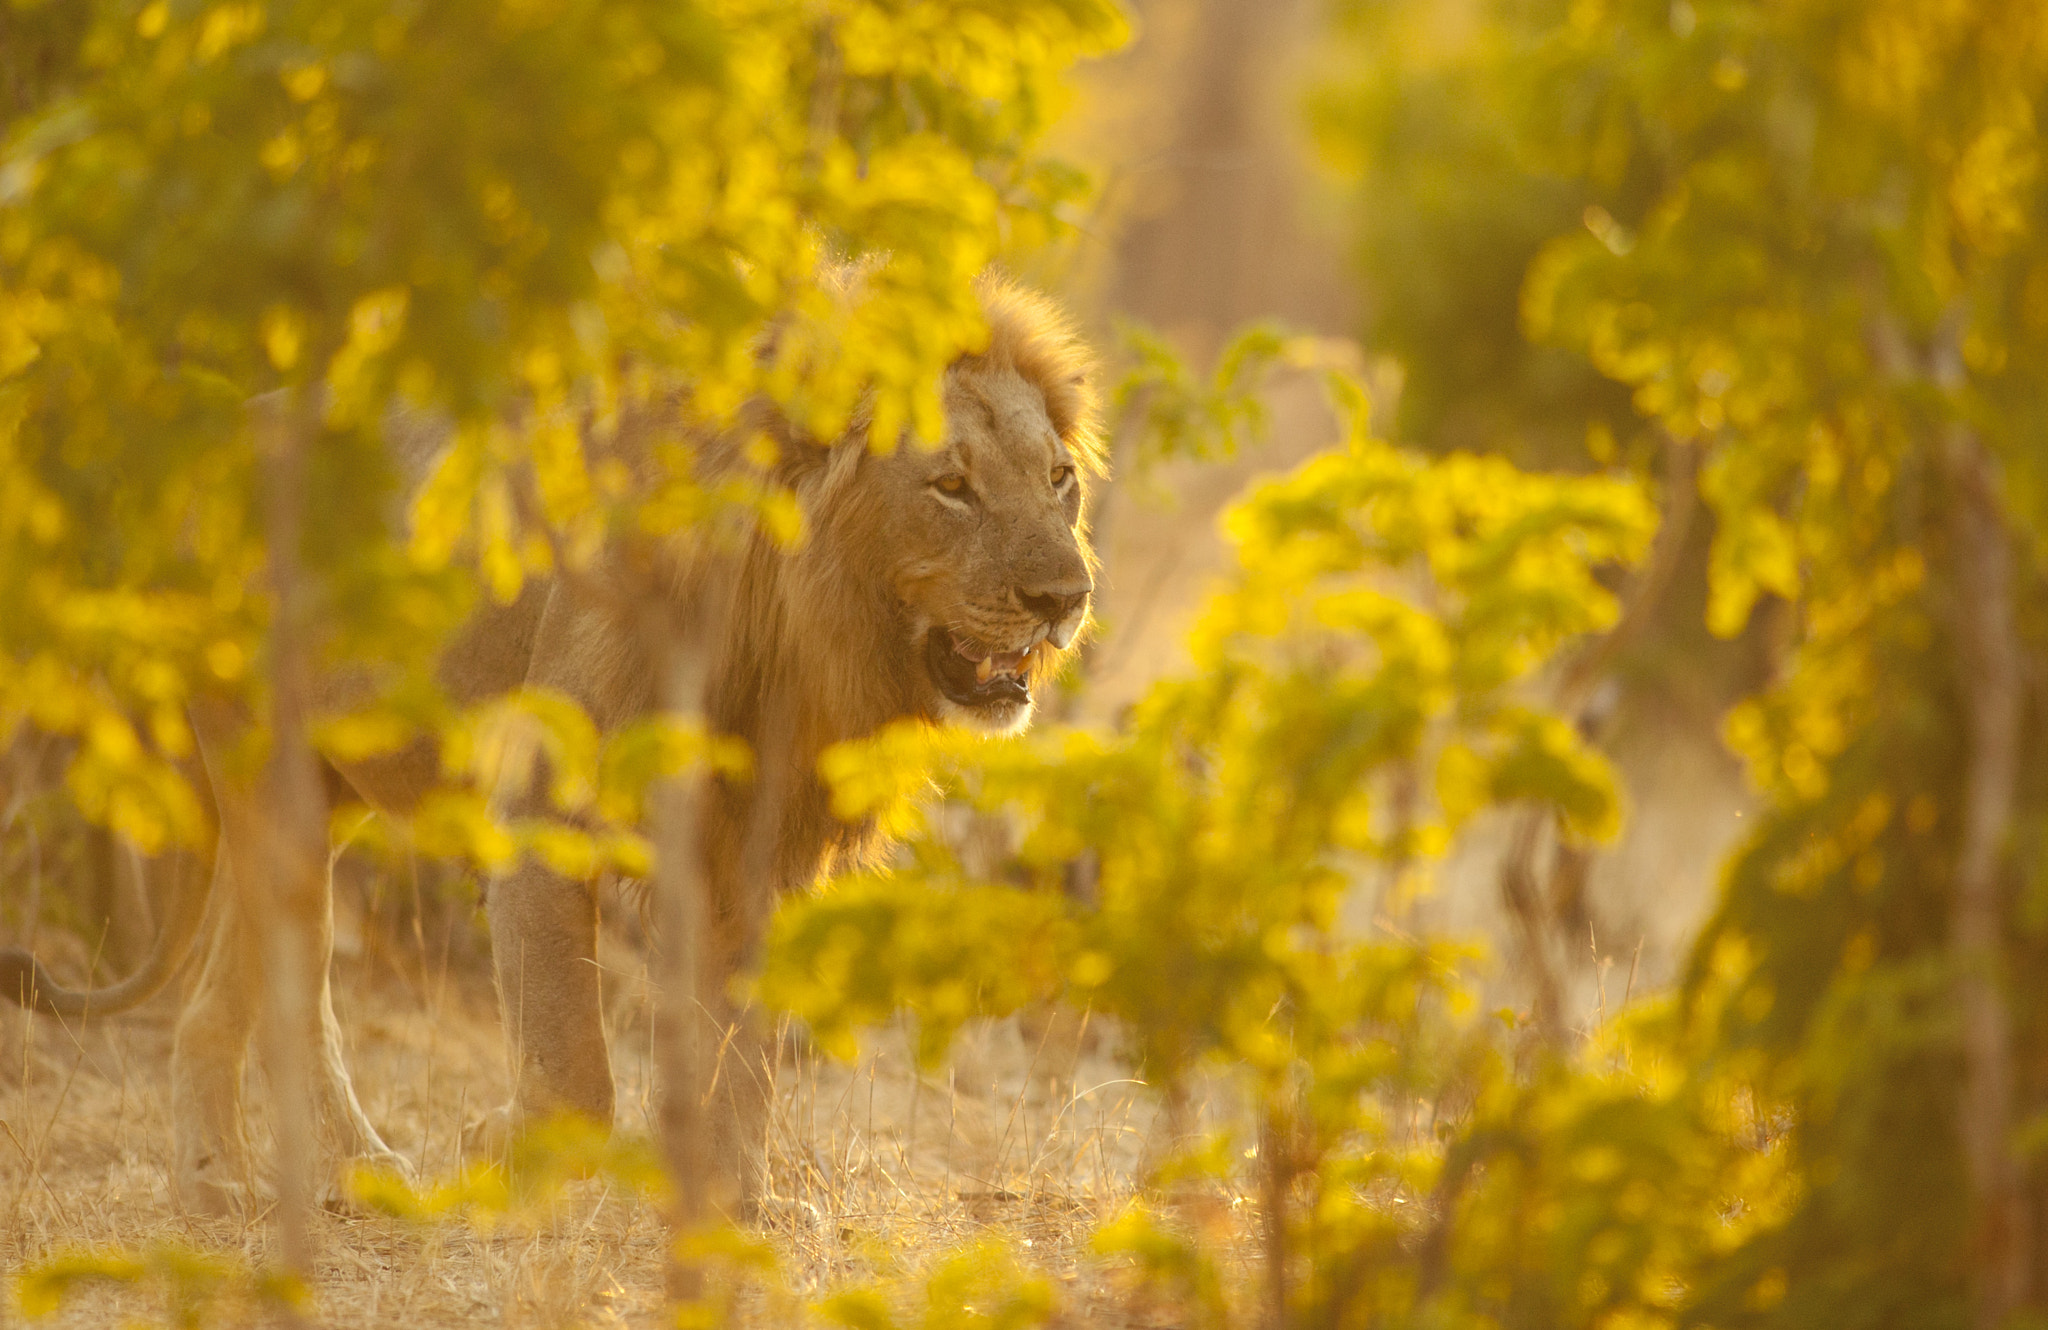
[[[1991,459],[1978,439],[1950,439],[1950,541],[1956,564],[1958,676],[1968,736],[1962,842],[1950,953],[1962,1014],[1958,1129],[1976,1195],[1974,1326],[1997,1330],[2028,1301],[2032,1248],[2011,1152],[2013,1051],[2005,1008],[2001,859],[2019,773],[2021,646],[2013,623],[2013,553]]]

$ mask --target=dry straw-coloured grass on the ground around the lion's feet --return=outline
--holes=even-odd
[[[348,924],[338,1004],[365,1107],[422,1176],[446,1176],[465,1162],[463,1123],[506,1090],[489,978],[463,937],[469,922],[457,918],[436,939],[432,928],[371,920],[358,945]],[[76,939],[45,930],[41,949],[74,973],[90,965]],[[602,951],[621,1127],[641,1131],[651,1109],[645,967],[621,930],[606,930]],[[264,1256],[264,1215],[205,1221],[172,1205],[164,1080],[172,1010],[162,998],[82,1027],[6,1010],[0,1273],[68,1248],[160,1240]],[[260,1084],[250,1098],[260,1103]],[[256,1131],[260,1139],[260,1123]],[[1065,1320],[1130,1324],[1141,1314],[1112,1307],[1112,1279],[1090,1260],[1085,1240],[1128,1201],[1157,1133],[1155,1100],[1130,1078],[1116,1041],[1073,1019],[975,1029],[946,1068],[926,1074],[893,1033],[854,1066],[793,1053],[770,1125],[764,1232],[803,1299],[915,1275],[948,1250],[993,1240],[1063,1289]],[[602,1182],[571,1189],[539,1230],[483,1234],[326,1213],[319,1320],[657,1324],[662,1240],[643,1199]],[[152,1293],[102,1289],[47,1324],[158,1316]],[[760,1303],[748,1320],[784,1316],[786,1303]]]

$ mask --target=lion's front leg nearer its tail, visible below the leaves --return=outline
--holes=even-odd
[[[526,859],[492,881],[485,912],[512,1059],[512,1103],[498,1127],[516,1133],[557,1113],[610,1127],[596,896]]]

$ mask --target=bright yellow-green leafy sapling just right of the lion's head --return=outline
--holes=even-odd
[[[1522,1180],[1493,1154],[1575,1158],[1647,1098],[1632,1074],[1518,1080],[1499,1021],[1470,1012],[1458,947],[1348,941],[1335,918],[1368,869],[1409,871],[1485,807],[1528,801],[1569,836],[1614,832],[1606,762],[1526,699],[1567,641],[1614,623],[1595,574],[1642,555],[1655,508],[1628,480],[1399,451],[1368,437],[1358,385],[1329,381],[1350,439],[1233,508],[1239,574],[1194,629],[1196,674],[1155,684],[1124,732],[991,744],[901,728],[829,754],[838,812],[907,834],[909,857],[786,904],[758,988],[842,1053],[897,1010],[936,1057],[971,1016],[1059,1000],[1114,1016],[1169,1100],[1198,1074],[1237,1082],[1253,1135],[1208,1139],[1157,1180],[1249,1172],[1303,1324],[1444,1314],[1456,1299],[1432,1297],[1409,1256],[1440,1211],[1473,1219],[1444,1260],[1513,1275],[1528,1236],[1495,1217],[1540,1203],[1522,1193],[1569,1164]],[[1190,428],[1214,428],[1194,410]],[[993,877],[922,812],[934,781],[1008,816],[1014,857]],[[1403,797],[1415,785],[1434,797]],[[1075,875],[1085,887],[1067,891]],[[1401,1127],[1438,1111],[1448,1156]],[[1677,1113],[1645,1105],[1636,1133],[1683,1150],[1694,1137],[1663,1129]],[[1681,1127],[1716,1141],[1694,1164],[1702,1197],[1726,1203],[1708,1160],[1731,1133]],[[1147,1209],[1098,1250],[1130,1258],[1190,1322],[1260,1316],[1225,1293],[1227,1250]]]

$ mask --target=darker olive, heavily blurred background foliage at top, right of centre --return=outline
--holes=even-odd
[[[1642,443],[1626,393],[1520,320],[1524,271],[1587,203],[1520,139],[1524,61],[1552,10],[1339,0],[1311,125],[1356,197],[1364,338],[1401,359],[1401,437],[1524,465],[1583,465],[1591,449],[1608,465]]]

